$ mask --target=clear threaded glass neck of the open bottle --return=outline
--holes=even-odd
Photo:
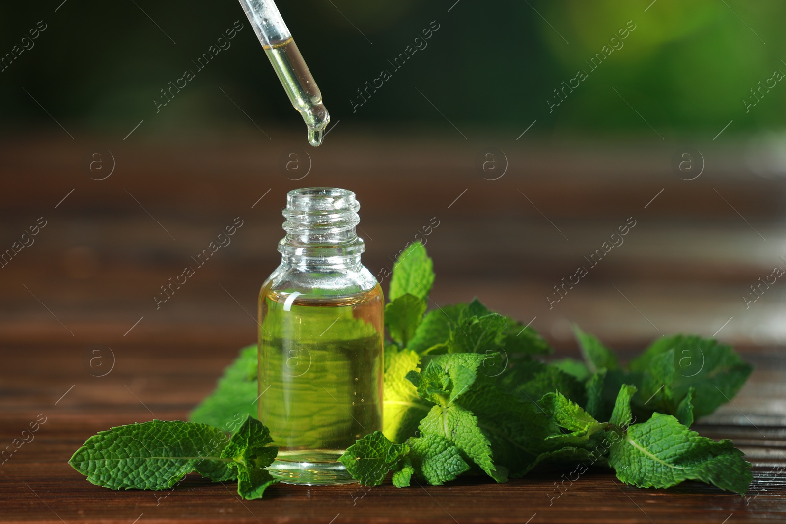
[[[354,192],[336,188],[295,189],[283,211],[286,236],[278,243],[281,263],[303,270],[354,269],[365,244],[355,226],[360,204]]]

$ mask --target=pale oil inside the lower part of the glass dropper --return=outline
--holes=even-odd
[[[322,104],[322,93],[317,82],[314,82],[297,44],[290,37],[284,42],[264,48],[289,100],[306,122],[310,145],[320,145],[325,127],[330,123],[330,115]]]

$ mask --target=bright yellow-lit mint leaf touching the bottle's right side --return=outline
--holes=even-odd
[[[386,438],[401,444],[417,431],[417,424],[432,408],[417,394],[417,388],[407,380],[408,372],[415,372],[421,362],[413,350],[385,348],[385,376],[383,406],[385,416],[382,430]]]

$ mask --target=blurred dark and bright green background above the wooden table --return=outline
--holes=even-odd
[[[253,126],[233,101],[263,129],[302,126],[238,2],[61,2],[0,7],[0,53],[12,53],[39,20],[46,24],[32,49],[0,72],[6,128],[50,126],[46,112],[61,123],[97,130],[130,130],[140,119],[149,119],[147,132]],[[652,133],[649,124],[659,134],[714,135],[734,119],[733,134],[783,122],[783,82],[750,112],[744,99],[753,101],[750,90],[773,71],[786,71],[786,2],[454,2],[281,0],[278,5],[334,122],[447,126],[424,96],[458,127],[471,123],[516,133],[534,119],[538,133],[560,134],[645,134]],[[230,49],[196,72],[196,79],[156,114],[153,101],[160,90],[185,69],[195,69],[192,60],[235,20],[244,29]],[[394,71],[388,60],[412,45],[432,20],[439,31],[428,46]],[[589,68],[589,60],[611,46],[629,20],[636,28],[623,46],[596,70]],[[382,69],[392,78],[353,112],[356,90]],[[549,112],[553,90],[579,69],[588,78]]]

